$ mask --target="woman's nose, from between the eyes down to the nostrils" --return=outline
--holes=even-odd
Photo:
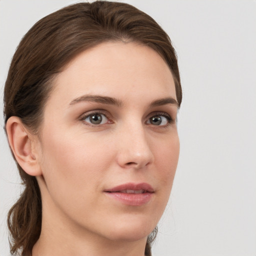
[[[123,168],[140,169],[153,162],[154,156],[143,124],[123,128],[118,136],[117,163]]]

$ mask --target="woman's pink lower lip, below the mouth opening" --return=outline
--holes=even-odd
[[[153,193],[128,194],[120,192],[105,192],[111,198],[120,201],[126,205],[140,206],[150,201]]]

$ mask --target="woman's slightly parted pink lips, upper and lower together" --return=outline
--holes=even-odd
[[[126,183],[106,189],[104,193],[126,205],[140,206],[150,201],[154,189],[148,183]]]

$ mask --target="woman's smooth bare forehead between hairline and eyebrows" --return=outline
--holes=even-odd
[[[176,98],[168,65],[152,48],[135,42],[101,43],[81,52],[56,76],[53,85],[49,101],[55,100],[58,106],[83,94],[122,101],[130,97]]]

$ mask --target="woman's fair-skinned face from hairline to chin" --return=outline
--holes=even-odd
[[[171,72],[148,46],[108,42],[75,57],[44,109],[44,221],[111,240],[145,238],[172,186],[176,113]]]

